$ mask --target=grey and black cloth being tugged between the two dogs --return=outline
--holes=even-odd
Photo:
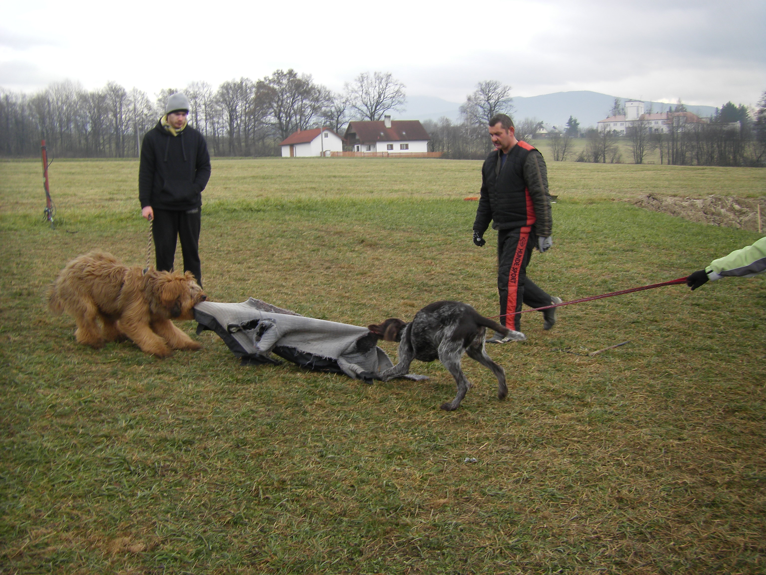
[[[250,297],[240,304],[203,301],[195,307],[197,334],[213,330],[241,363],[282,363],[271,354],[311,370],[345,373],[372,383],[393,364],[366,327],[304,317]],[[411,380],[426,376],[408,373]]]

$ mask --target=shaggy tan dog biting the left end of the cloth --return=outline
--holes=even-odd
[[[66,265],[48,295],[51,311],[74,317],[78,343],[101,347],[129,337],[159,357],[202,347],[171,321],[193,320],[195,305],[208,298],[189,271],[149,268],[143,274],[111,254],[90,251]]]

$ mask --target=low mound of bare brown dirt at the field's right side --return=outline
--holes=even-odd
[[[642,195],[635,205],[642,208],[678,215],[689,222],[725,225],[728,228],[758,232],[758,204],[761,205],[761,228],[766,227],[766,197],[732,198],[709,195],[706,198],[677,198],[675,196]]]

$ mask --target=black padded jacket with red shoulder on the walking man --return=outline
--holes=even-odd
[[[519,141],[500,166],[500,152],[489,153],[482,166],[482,186],[473,231],[534,226],[535,234],[552,235],[548,169],[537,149]]]

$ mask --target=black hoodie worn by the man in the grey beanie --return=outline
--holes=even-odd
[[[188,210],[202,205],[202,190],[210,179],[210,154],[202,134],[186,126],[177,136],[162,120],[146,133],[139,164],[141,207]]]

